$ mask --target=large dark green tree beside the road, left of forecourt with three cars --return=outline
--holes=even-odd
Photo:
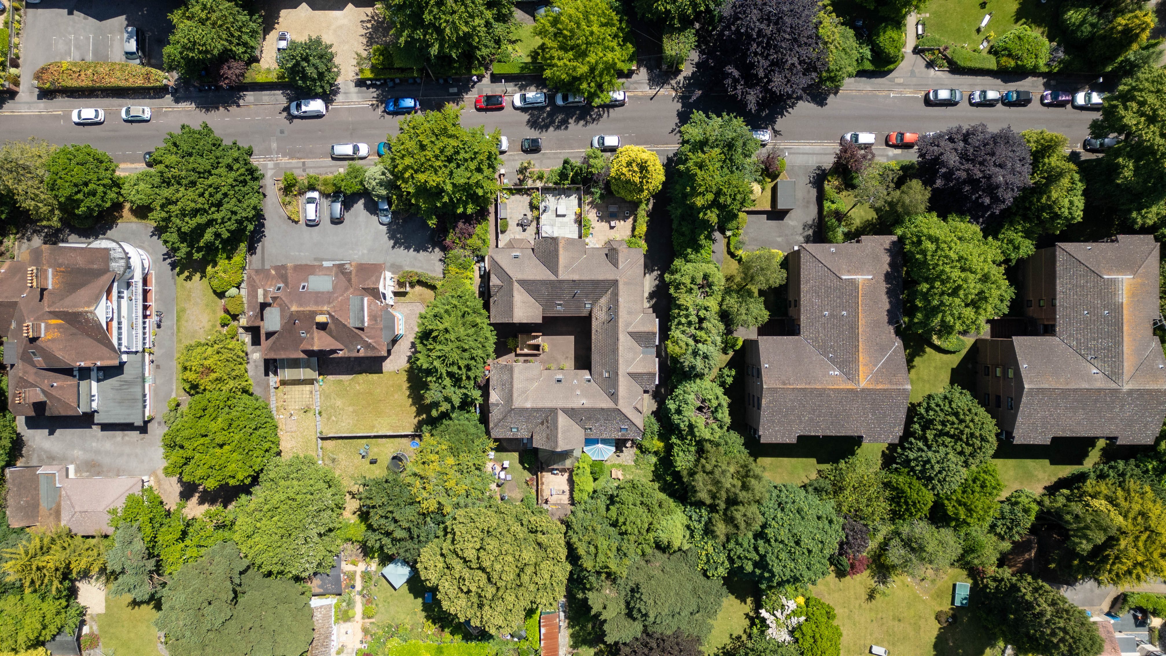
[[[138,197],[149,200],[150,219],[177,259],[217,261],[247,242],[264,211],[264,175],[251,154],[251,146],[224,144],[205,121],[197,130],[182,125],[154,151],[153,168],[135,176]]]

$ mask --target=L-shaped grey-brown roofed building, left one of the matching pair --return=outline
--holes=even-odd
[[[911,398],[897,237],[789,253],[786,336],[745,341],[745,421],[763,442],[858,435],[897,442]]]

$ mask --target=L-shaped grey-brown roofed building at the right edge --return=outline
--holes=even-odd
[[[1056,244],[1021,268],[1023,317],[976,341],[977,393],[1005,437],[1153,444],[1166,417],[1158,243],[1150,235]]]

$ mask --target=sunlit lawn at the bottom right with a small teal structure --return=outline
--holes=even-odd
[[[890,595],[868,601],[869,572],[841,580],[831,574],[813,591],[837,610],[845,656],[868,654],[871,644],[911,656],[983,656],[993,640],[969,609],[956,609],[956,622],[948,627],[935,621],[936,610],[951,608],[951,585],[970,580],[963,570],[928,582],[897,577]]]

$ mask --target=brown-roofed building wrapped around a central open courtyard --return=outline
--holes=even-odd
[[[546,466],[582,451],[606,459],[644,434],[658,382],[655,315],[644,251],[620,240],[513,239],[490,250],[490,321],[517,348],[490,372],[490,431],[540,451]]]

